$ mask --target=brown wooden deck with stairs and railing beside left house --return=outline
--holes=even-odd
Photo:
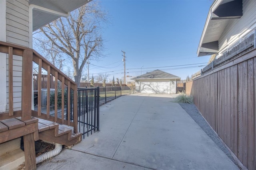
[[[77,114],[77,85],[76,83],[66,76],[63,72],[58,70],[52,63],[47,61],[44,57],[38,54],[33,49],[15,45],[12,43],[6,43],[0,41],[0,53],[8,54],[8,108],[6,112],[0,113],[0,143],[10,141],[12,139],[22,137],[24,139],[24,152],[25,152],[25,166],[27,169],[36,169],[35,158],[35,146],[34,141],[42,139],[44,141],[50,141],[60,143],[67,146],[72,146],[75,143],[81,141],[81,135],[78,133],[78,114]],[[14,72],[14,55],[22,57],[22,76],[21,76],[21,106],[20,110],[14,108],[14,82],[16,77],[13,76]],[[38,110],[31,109],[32,105],[32,65],[38,64],[38,77],[37,89],[38,90]],[[47,75],[42,75],[42,69],[46,70]],[[47,83],[44,86],[47,88],[47,111],[46,114],[41,112],[41,89],[42,78],[47,77]],[[56,81],[54,85],[54,103],[55,114],[50,115],[50,88],[51,81]],[[44,81],[44,79],[43,79]],[[61,87],[58,86],[58,83]],[[61,90],[61,97],[58,98],[58,89]],[[64,91],[67,90],[67,99],[64,99]],[[72,98],[72,100],[71,100]],[[66,101],[67,106],[73,106],[73,109],[68,109],[67,118],[64,117],[64,105],[62,105],[62,117],[58,118],[58,101],[64,104]],[[33,117],[32,117],[33,116]],[[36,117],[36,118],[35,118]],[[40,119],[46,119],[52,121],[46,123],[46,121],[39,121]],[[71,130],[58,125],[58,122],[69,127]],[[38,127],[40,126],[40,127]],[[47,127],[48,126],[48,127]]]

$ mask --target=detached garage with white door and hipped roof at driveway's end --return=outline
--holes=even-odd
[[[132,78],[136,82],[136,91],[141,93],[176,93],[176,81],[180,77],[168,72],[154,70]]]

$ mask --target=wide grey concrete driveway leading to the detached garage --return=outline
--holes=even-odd
[[[100,132],[39,170],[235,170],[237,166],[174,103],[176,95],[122,96],[100,107]]]

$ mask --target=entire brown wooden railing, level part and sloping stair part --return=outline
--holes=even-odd
[[[0,53],[6,53],[9,56],[8,77],[9,77],[9,108],[8,111],[0,113],[0,120],[21,117],[22,121],[31,119],[32,116],[41,119],[47,119],[64,125],[74,127],[74,133],[77,133],[77,85],[76,83],[62,73],[53,64],[38,54],[33,49],[14,45],[0,41]],[[14,91],[13,91],[13,55],[22,56],[22,101],[21,109],[14,111]],[[2,61],[5,62],[5,61]],[[32,65],[38,64],[38,109],[32,110]],[[53,76],[55,78],[54,95],[54,114],[50,115],[50,81],[47,81],[47,106],[46,113],[42,113],[41,107],[41,78],[42,69],[46,70],[48,80]],[[60,83],[58,83],[60,82]],[[58,86],[59,84],[59,86]],[[58,98],[58,90],[61,91],[61,99]],[[64,92],[67,90],[67,98],[64,98]],[[61,113],[58,117],[58,100],[61,101]],[[66,102],[66,106],[64,103]],[[64,115],[66,107],[66,115]]]

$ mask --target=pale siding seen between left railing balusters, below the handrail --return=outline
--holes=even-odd
[[[9,108],[9,68],[8,56],[6,59],[6,88],[7,88],[7,106]],[[21,89],[22,89],[22,56],[13,55],[13,108],[14,111],[21,110]]]

